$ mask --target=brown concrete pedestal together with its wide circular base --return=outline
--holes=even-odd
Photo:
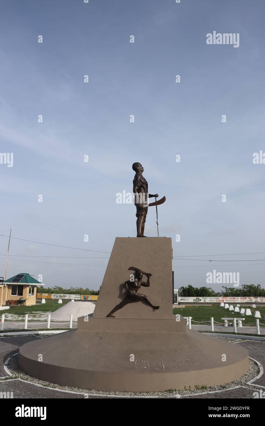
[[[215,386],[241,377],[248,371],[244,348],[173,318],[171,259],[171,239],[117,238],[93,317],[79,318],[75,331],[23,345],[20,366],[41,380],[102,391]],[[160,309],[135,302],[106,318],[124,297],[130,266],[152,273],[151,286],[139,293]]]

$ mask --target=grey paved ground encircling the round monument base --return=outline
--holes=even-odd
[[[40,336],[26,335],[26,336],[11,336],[11,337],[0,337],[0,377],[8,378],[9,375],[4,369],[4,362],[9,357],[10,353],[15,353],[18,348],[31,340],[37,340]],[[235,345],[242,345],[248,350],[249,356],[258,361],[263,367],[265,367],[265,342],[259,342],[255,340],[237,340],[231,338],[222,338],[223,340],[233,342]],[[194,398],[194,399],[248,399],[254,398],[254,392],[262,389],[265,391],[265,373],[262,376],[254,380],[250,384],[245,386],[236,387],[233,389],[226,389],[224,391],[217,392],[203,392],[200,394],[185,395],[181,396],[180,399]],[[258,387],[255,385],[262,386]],[[71,393],[65,391],[58,391],[57,389],[48,389],[46,386],[39,386],[33,383],[28,383],[20,379],[1,380],[0,379],[0,392],[13,392],[13,398],[30,398],[30,399],[64,399],[64,398],[116,398],[115,396],[104,396],[104,395],[86,395],[83,393]],[[129,398],[129,397],[125,397]],[[143,397],[139,397],[142,399]],[[169,396],[168,398],[176,399],[176,397]]]

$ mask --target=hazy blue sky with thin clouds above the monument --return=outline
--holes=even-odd
[[[0,231],[111,252],[116,236],[136,235],[135,207],[116,193],[132,191],[140,161],[150,192],[166,196],[160,236],[174,256],[238,261],[176,259],[175,287],[206,285],[213,269],[264,287],[265,261],[243,260],[265,253],[230,255],[265,250],[265,164],[252,161],[265,152],[264,12],[258,0],[2,0],[0,152],[14,165],[0,164]],[[207,45],[213,31],[239,33],[239,47]],[[157,235],[154,207],[145,234]],[[0,275],[7,243],[0,237]],[[108,261],[17,239],[10,255],[7,277],[42,274],[50,287],[97,289]]]

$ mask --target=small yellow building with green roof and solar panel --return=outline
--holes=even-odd
[[[35,305],[37,285],[40,285],[40,282],[28,273],[18,273],[6,279],[0,287],[0,306]]]

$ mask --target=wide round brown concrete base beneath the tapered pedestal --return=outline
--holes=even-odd
[[[150,392],[230,383],[248,371],[248,352],[191,330],[75,330],[26,343],[19,363],[62,386]]]

